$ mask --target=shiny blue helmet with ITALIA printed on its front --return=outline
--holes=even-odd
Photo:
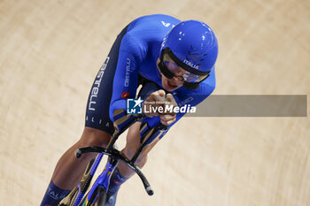
[[[198,88],[213,70],[218,56],[218,42],[213,30],[198,20],[182,21],[164,38],[160,49],[159,69],[168,79],[171,59],[186,72],[182,75],[184,88]]]

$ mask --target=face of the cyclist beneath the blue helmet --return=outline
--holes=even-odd
[[[158,59],[159,64],[159,59]],[[184,80],[182,78],[182,75],[186,72],[182,69],[182,67],[176,65],[173,60],[170,60],[166,62],[166,65],[170,72],[174,73],[174,77],[172,79],[168,79],[164,74],[161,74],[161,83],[163,85],[163,88],[165,88],[167,91],[173,91],[177,88],[181,88],[183,86]]]

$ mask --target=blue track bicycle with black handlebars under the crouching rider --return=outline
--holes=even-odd
[[[135,163],[143,148],[151,144],[151,142],[160,135],[167,132],[168,126],[159,124],[158,126],[151,127],[148,122],[145,121],[140,127],[141,140],[139,148],[136,149],[135,155],[131,159],[128,159],[120,153],[120,150],[115,149],[114,144],[118,140],[120,134],[123,134],[129,126],[132,126],[137,121],[143,121],[146,117],[143,114],[127,115],[123,110],[115,111],[114,117],[117,117],[114,121],[115,132],[106,148],[85,147],[75,151],[75,156],[77,158],[89,152],[96,152],[98,155],[96,159],[92,159],[89,162],[79,185],[75,187],[66,198],[59,202],[58,206],[105,206],[110,176],[119,161],[127,164],[131,170],[136,172],[142,180],[143,187],[148,195],[154,194],[149,181],[145,178],[143,172],[141,172]],[[109,156],[109,160],[105,165],[104,171],[101,172],[96,181],[91,185],[91,179],[94,177],[97,167],[104,155]],[[88,191],[90,185],[91,187]]]

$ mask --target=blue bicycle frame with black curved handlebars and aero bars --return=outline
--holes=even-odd
[[[75,151],[75,156],[79,158],[82,154],[88,152],[97,152],[97,158],[93,161],[92,164],[89,164],[89,172],[84,174],[84,177],[81,179],[81,183],[78,186],[78,191],[75,191],[73,197],[71,197],[74,201],[74,206],[91,206],[96,202],[97,198],[100,197],[102,194],[106,195],[106,191],[109,188],[109,181],[114,171],[115,167],[119,163],[119,161],[128,165],[128,167],[136,172],[136,174],[140,177],[143,182],[143,186],[145,191],[148,195],[153,195],[154,192],[151,189],[151,186],[148,180],[143,175],[143,172],[135,165],[137,157],[140,155],[143,148],[154,141],[159,135],[163,132],[167,131],[167,126],[159,125],[155,126],[154,128],[148,127],[147,123],[141,126],[140,134],[141,134],[141,144],[140,147],[136,150],[135,155],[129,160],[126,156],[120,154],[120,151],[113,148],[115,141],[119,138],[120,134],[124,133],[128,129],[129,126],[132,126],[136,121],[143,120],[145,116],[143,115],[136,115],[136,117],[132,118],[125,126],[122,126],[120,130],[116,130],[116,132],[112,135],[112,139],[109,142],[107,148],[101,147],[86,147],[77,149]],[[97,171],[97,166],[100,164],[102,157],[110,156],[110,161],[107,161],[105,165],[105,170],[98,176],[95,183],[89,190],[87,195],[86,191],[90,185],[91,179],[93,178],[95,172]],[[101,194],[101,195],[98,195]],[[105,200],[101,200],[105,201]],[[67,205],[67,204],[60,204],[60,205]]]

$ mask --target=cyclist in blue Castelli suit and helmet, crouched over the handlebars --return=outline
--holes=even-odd
[[[218,42],[213,30],[198,20],[180,21],[156,14],[132,21],[117,36],[89,93],[86,121],[81,139],[59,159],[41,205],[57,205],[81,179],[89,160],[96,154],[77,159],[75,149],[106,147],[114,132],[115,111],[127,111],[128,98],[136,98],[143,86],[144,121],[173,126],[183,113],[146,111],[144,105],[159,108],[167,104],[182,107],[201,103],[215,88],[214,64]],[[138,102],[141,103],[141,102]],[[151,120],[152,119],[152,120]],[[155,119],[155,120],[154,120]],[[130,126],[122,153],[131,158],[140,142],[141,122]],[[136,161],[141,168],[147,154],[165,133],[143,149]],[[112,173],[107,205],[115,205],[120,185],[133,175],[119,163]]]

